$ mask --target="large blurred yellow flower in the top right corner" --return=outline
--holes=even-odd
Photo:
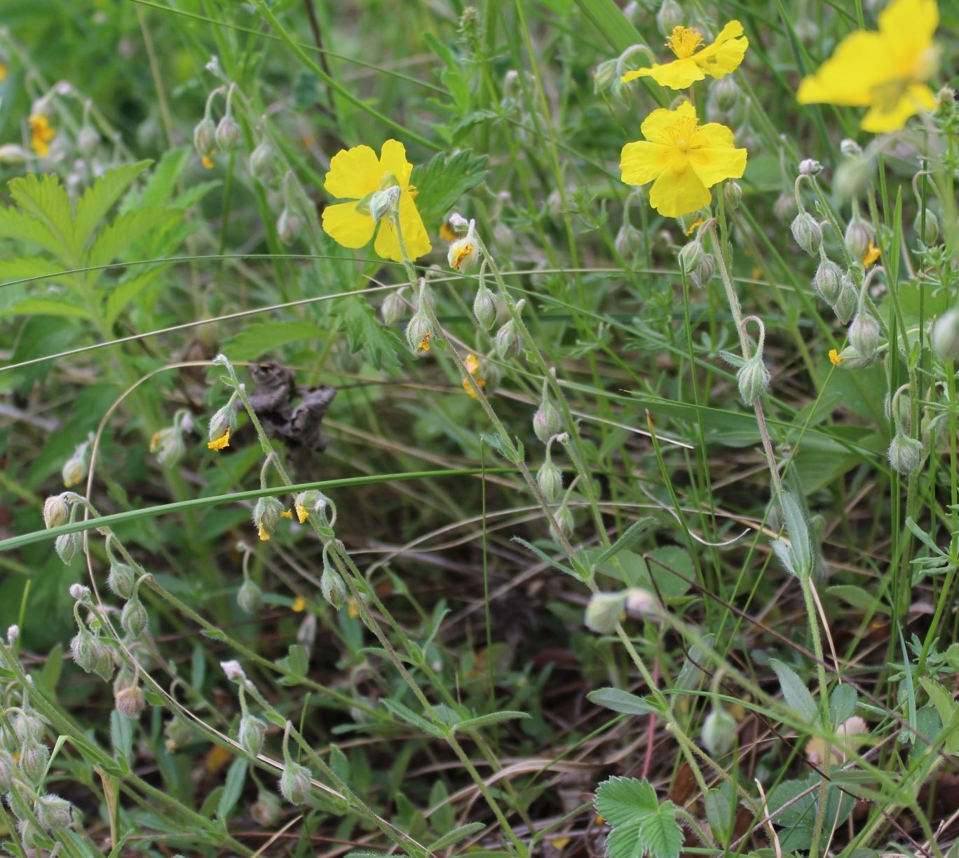
[[[939,23],[935,0],[893,0],[879,13],[878,31],[847,35],[814,75],[799,85],[800,104],[869,107],[866,131],[895,131],[936,97],[925,84],[936,70],[932,34]]]

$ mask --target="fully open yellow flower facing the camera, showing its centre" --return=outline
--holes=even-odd
[[[622,180],[653,182],[649,204],[666,218],[709,205],[716,182],[739,178],[746,169],[746,150],[734,148],[733,132],[714,122],[700,126],[689,102],[653,110],[641,130],[645,140],[622,148]]]

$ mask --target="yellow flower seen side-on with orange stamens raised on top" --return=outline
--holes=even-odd
[[[674,27],[666,43],[667,48],[676,55],[672,62],[627,72],[620,80],[626,83],[650,77],[660,86],[685,89],[693,81],[704,80],[707,75],[724,78],[730,72],[735,72],[749,47],[749,39],[742,35],[742,24],[738,21],[730,21],[712,45],[697,51],[702,43],[702,35],[691,27]]]

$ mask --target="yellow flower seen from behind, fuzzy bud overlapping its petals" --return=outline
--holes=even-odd
[[[409,184],[412,165],[407,151],[397,140],[387,140],[377,158],[368,146],[340,150],[330,161],[330,172],[323,185],[334,197],[353,200],[327,206],[323,210],[323,229],[344,247],[363,247],[376,232],[376,221],[369,214],[369,197],[393,185],[400,188],[399,220],[403,242],[410,259],[418,259],[433,247],[413,197],[416,189]],[[396,230],[383,219],[373,249],[384,259],[402,262]]]

